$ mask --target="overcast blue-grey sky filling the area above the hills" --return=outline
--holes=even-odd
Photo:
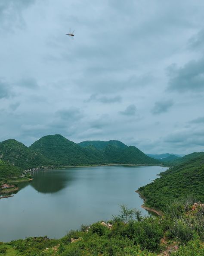
[[[203,13],[203,0],[0,0],[0,141],[203,151]]]

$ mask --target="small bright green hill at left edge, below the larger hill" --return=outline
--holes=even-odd
[[[22,176],[23,170],[0,160],[0,179]]]

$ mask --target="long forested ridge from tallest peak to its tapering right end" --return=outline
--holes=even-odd
[[[101,142],[89,141],[80,146],[60,134],[55,134],[40,138],[30,148],[56,160],[62,166],[108,163],[160,164],[158,160],[146,156],[136,147],[127,147],[120,141]]]

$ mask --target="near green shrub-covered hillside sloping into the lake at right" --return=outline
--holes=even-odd
[[[161,178],[139,188],[138,191],[146,198],[145,205],[164,210],[170,201],[186,195],[204,202],[204,154],[197,154],[196,158],[160,175]]]

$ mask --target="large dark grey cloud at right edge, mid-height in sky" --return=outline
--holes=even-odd
[[[169,87],[171,91],[183,93],[204,90],[204,58],[189,61],[184,67],[169,67]]]

